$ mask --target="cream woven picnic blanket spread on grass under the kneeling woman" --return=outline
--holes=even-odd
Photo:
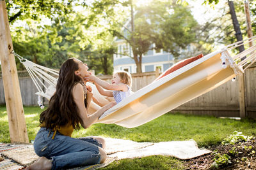
[[[73,169],[98,169],[100,167],[108,166],[111,162],[120,159],[133,159],[140,157],[147,157],[150,155],[165,155],[170,157],[177,157],[182,160],[199,157],[207,153],[211,153],[211,150],[200,149],[193,140],[189,141],[166,141],[159,143],[150,142],[135,142],[125,139],[104,138],[106,140],[106,152],[108,153],[108,159],[104,164],[97,164],[94,166],[76,167]],[[6,159],[7,162],[13,164],[13,160],[17,162],[13,166],[26,167],[29,164],[35,162],[38,156],[33,150],[32,144],[5,144],[0,143],[0,153]],[[3,161],[6,161],[3,160]],[[3,162],[2,161],[2,162]],[[1,167],[0,169],[4,169]],[[15,168],[12,168],[15,169]]]

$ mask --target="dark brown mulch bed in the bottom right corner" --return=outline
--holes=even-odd
[[[252,146],[250,149],[249,146]],[[234,149],[234,147],[236,147]],[[214,154],[203,155],[194,159],[184,161],[186,169],[256,169],[256,139],[250,141],[237,143],[235,145],[216,145],[209,148],[210,150],[217,150],[221,155],[227,154],[230,156],[230,164],[223,164],[218,168],[212,167],[214,162]],[[235,150],[236,153],[230,153],[230,150]],[[254,151],[254,153],[253,153]]]

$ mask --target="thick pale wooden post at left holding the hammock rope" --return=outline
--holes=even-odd
[[[28,142],[5,1],[0,0],[0,57],[11,142]]]

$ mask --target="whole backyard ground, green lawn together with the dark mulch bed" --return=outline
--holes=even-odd
[[[39,107],[24,107],[29,141],[33,141],[38,131]],[[8,116],[6,107],[0,107],[0,142],[10,143]],[[115,161],[103,169],[253,169],[256,167],[255,120],[233,120],[209,116],[194,116],[180,113],[167,113],[140,127],[127,129],[115,124],[94,124],[88,129],[74,131],[72,137],[102,136],[129,139],[137,142],[184,141],[194,139],[199,148],[214,151],[191,160],[179,160],[161,155],[140,159]],[[235,131],[242,134],[233,134]],[[235,132],[236,133],[236,132]],[[245,139],[240,143],[230,144],[234,139]],[[247,141],[246,141],[247,139]],[[228,145],[222,145],[225,141]],[[239,141],[239,140],[237,140]],[[214,163],[214,157],[215,163]],[[213,166],[212,166],[213,165]],[[215,165],[215,167],[214,167]]]

